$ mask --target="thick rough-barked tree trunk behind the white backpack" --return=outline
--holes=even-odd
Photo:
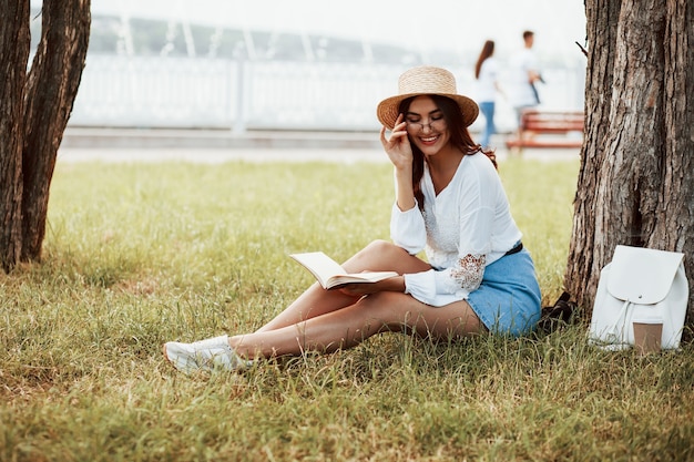
[[[690,4],[687,4],[690,3]],[[685,254],[694,320],[694,7],[586,0],[586,136],[564,284],[591,308],[618,244]]]

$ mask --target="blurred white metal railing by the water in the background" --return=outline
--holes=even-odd
[[[246,130],[378,130],[375,107],[406,66],[89,55],[73,126]],[[449,66],[470,94],[470,66]],[[544,69],[544,109],[583,107],[584,68]],[[500,131],[514,117],[497,109]],[[479,123],[479,122],[478,122]],[[474,130],[474,125],[472,127]]]

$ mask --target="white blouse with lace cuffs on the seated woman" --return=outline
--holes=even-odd
[[[390,217],[392,242],[410,255],[425,250],[432,267],[405,275],[405,291],[431,306],[467,299],[480,286],[484,267],[522,236],[499,174],[483,153],[466,155],[437,196],[425,163],[421,189],[423,213],[418,206],[402,212],[396,203]]]

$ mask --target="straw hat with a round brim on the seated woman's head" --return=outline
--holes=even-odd
[[[387,97],[378,104],[376,115],[380,123],[388,129],[395,126],[398,119],[398,107],[402,100],[421,94],[439,94],[448,96],[460,106],[462,121],[470,126],[477,119],[480,110],[477,103],[456,91],[456,78],[446,69],[422,65],[405,71],[398,79],[398,94]]]

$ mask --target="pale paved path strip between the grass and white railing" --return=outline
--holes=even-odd
[[[497,157],[509,156],[503,135]],[[523,158],[569,161],[580,150],[524,150]],[[378,133],[69,129],[58,162],[388,162]]]

